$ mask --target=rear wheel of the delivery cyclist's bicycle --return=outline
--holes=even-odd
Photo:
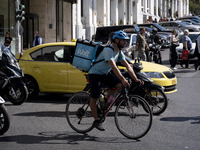
[[[78,133],[86,133],[93,129],[93,121],[89,93],[75,93],[66,105],[66,119],[70,127]]]

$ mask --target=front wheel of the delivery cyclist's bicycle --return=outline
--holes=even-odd
[[[122,135],[139,139],[151,128],[152,112],[142,97],[129,95],[129,99],[122,100],[116,107],[115,123]]]

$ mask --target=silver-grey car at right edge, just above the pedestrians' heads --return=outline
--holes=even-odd
[[[158,24],[169,30],[176,29],[176,30],[184,31],[185,29],[188,29],[190,32],[200,31],[199,26],[191,25],[189,23],[182,22],[182,21],[165,21],[165,22],[159,22]]]

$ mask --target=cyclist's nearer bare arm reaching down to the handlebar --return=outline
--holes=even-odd
[[[128,81],[124,78],[124,76],[121,74],[120,70],[118,69],[116,63],[114,60],[108,60],[108,63],[110,64],[114,74],[119,78],[119,80],[122,82],[123,86],[129,86]]]

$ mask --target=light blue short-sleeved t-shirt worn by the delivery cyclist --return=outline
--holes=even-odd
[[[113,48],[114,49],[114,48]],[[124,53],[121,51],[120,53],[117,52],[115,49],[106,47],[103,51],[99,54],[96,61],[104,59],[104,61],[98,62],[92,66],[89,70],[89,74],[107,74],[112,68],[108,63],[108,60],[123,61],[125,60]],[[119,57],[120,56],[120,57]],[[119,57],[119,58],[118,58]]]

